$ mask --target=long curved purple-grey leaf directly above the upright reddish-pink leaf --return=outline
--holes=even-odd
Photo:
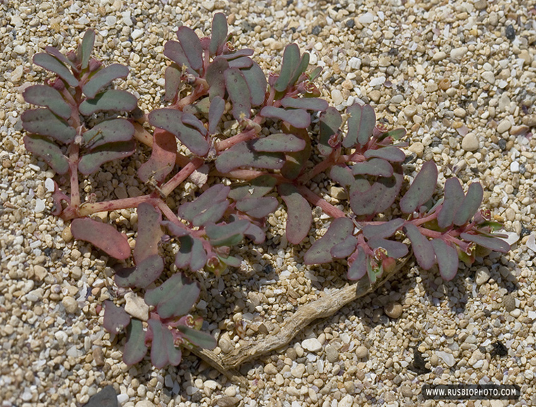
[[[149,123],[152,126],[169,131],[188,147],[188,150],[199,156],[209,151],[209,142],[203,135],[182,122],[183,112],[176,109],[157,109],[149,114]]]

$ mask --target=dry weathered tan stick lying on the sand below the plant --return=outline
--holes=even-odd
[[[410,254],[403,259],[397,260],[396,267],[391,272],[384,273],[374,284],[370,284],[367,278],[363,278],[355,284],[339,288],[338,290],[332,290],[329,294],[322,296],[322,298],[302,305],[298,311],[291,317],[288,317],[276,335],[266,336],[262,341],[248,341],[248,343],[240,346],[240,348],[236,348],[222,358],[207,349],[195,348],[192,352],[202,358],[202,360],[205,360],[214,369],[226,375],[233,382],[247,386],[248,382],[245,377],[240,375],[237,370],[240,365],[288,345],[312,321],[334,315],[344,305],[376,291],[377,288],[384,285],[387,280],[406,265],[409,258]]]

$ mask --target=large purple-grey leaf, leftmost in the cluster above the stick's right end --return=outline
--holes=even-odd
[[[353,221],[348,218],[336,218],[331,221],[331,225],[329,225],[324,236],[312,243],[307,253],[305,253],[303,257],[305,264],[322,265],[323,263],[331,262],[333,260],[331,248],[351,236],[353,228]]]

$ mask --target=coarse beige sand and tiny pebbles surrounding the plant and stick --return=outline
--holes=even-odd
[[[0,4],[0,401],[11,406],[80,406],[113,384],[122,406],[535,406],[536,8],[530,1],[2,1]],[[530,8],[532,7],[532,8]],[[437,270],[408,265],[377,293],[305,329],[291,346],[240,372],[240,388],[195,356],[165,370],[148,360],[130,369],[110,343],[97,305],[112,290],[102,253],[75,243],[50,214],[53,171],[23,145],[21,90],[42,83],[32,55],[47,45],[72,49],[97,31],[105,63],[130,66],[120,86],[140,107],[159,107],[163,45],[180,25],[207,34],[213,13],[229,16],[242,46],[277,71],[296,42],[324,67],[323,95],[343,109],[371,103],[386,126],[408,130],[418,168],[434,159],[441,175],[480,181],[485,206],[504,221],[511,253],[478,258],[443,283]],[[142,154],[111,164],[85,183],[103,198],[135,195]],[[121,175],[123,174],[123,175]],[[336,203],[338,190],[319,178]],[[138,188],[139,187],[139,188]],[[107,214],[128,228],[130,212]],[[238,344],[234,322],[262,340],[288,311],[345,284],[341,265],[303,267],[303,248],[287,248],[281,211],[270,220],[272,246],[243,248],[240,271],[203,280],[197,312],[219,334],[217,351]],[[105,219],[105,220],[106,220]],[[324,219],[315,219],[324,227]],[[310,232],[314,240],[319,235]],[[68,298],[68,300],[64,300]],[[74,303],[72,299],[74,298]],[[214,301],[212,298],[217,298]],[[66,308],[67,305],[67,308]],[[384,308],[401,315],[385,314]],[[391,312],[389,312],[391,313]],[[268,328],[268,329],[267,329]],[[319,350],[310,351],[317,339]],[[505,356],[487,347],[500,341]],[[314,344],[315,341],[312,341]],[[414,348],[430,372],[416,372]],[[518,401],[425,401],[423,384],[518,384]]]

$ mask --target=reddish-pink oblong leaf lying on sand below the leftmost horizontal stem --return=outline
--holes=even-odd
[[[114,226],[90,218],[78,218],[71,223],[71,233],[75,239],[90,242],[118,260],[130,257],[130,245],[126,236],[116,231]]]

